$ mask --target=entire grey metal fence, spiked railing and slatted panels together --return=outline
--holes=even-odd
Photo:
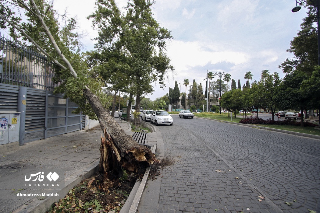
[[[52,93],[59,86],[52,80],[54,67],[45,56],[0,34],[0,112],[21,113],[20,145],[85,128],[85,115],[71,113],[78,105]]]

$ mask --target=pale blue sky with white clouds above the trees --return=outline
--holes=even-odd
[[[84,50],[94,49],[92,39],[97,36],[86,19],[95,10],[94,2],[54,0],[54,9],[76,16]],[[119,8],[126,2],[116,0]],[[167,56],[174,73],[168,72],[166,87],[153,84],[155,91],[145,96],[155,100],[168,93],[175,81],[180,92],[185,92],[184,79],[201,83],[205,90],[207,72],[229,73],[241,86],[246,72],[253,74],[252,81],[259,81],[266,69],[283,78],[278,66],[293,57],[286,50],[307,15],[303,7],[293,13],[295,6],[295,0],[156,0],[153,17],[173,36],[167,41]]]

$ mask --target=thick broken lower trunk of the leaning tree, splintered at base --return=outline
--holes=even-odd
[[[147,165],[160,162],[149,148],[139,145],[132,139],[131,135],[124,132],[110,116],[108,110],[101,105],[96,95],[89,89],[84,89],[84,94],[98,117],[101,129],[104,133],[109,134],[103,137],[105,139],[101,137],[101,149],[103,151],[101,151],[100,171],[103,171],[104,175],[111,178],[114,175],[119,175],[118,171],[121,168],[113,168],[113,166],[118,167],[117,165],[128,171],[139,173],[143,172]],[[110,157],[111,154],[114,157]],[[113,162],[110,162],[110,160]],[[106,164],[109,166],[106,167]],[[117,171],[116,174],[113,173],[114,171]]]

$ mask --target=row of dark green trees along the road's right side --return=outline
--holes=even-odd
[[[286,74],[279,79],[278,73],[261,72],[261,78],[251,88],[235,89],[221,97],[221,105],[229,110],[268,108],[272,112],[278,110],[310,110],[320,107],[320,66],[317,54],[317,21],[316,7],[307,2],[308,16],[303,19],[301,30],[291,41],[288,52],[294,54],[286,59],[279,68]],[[249,76],[248,76],[249,77]],[[248,79],[248,78],[247,78]],[[249,79],[248,79],[249,80]],[[235,114],[236,116],[236,114]],[[274,117],[272,117],[274,119]],[[301,119],[303,126],[303,117]]]

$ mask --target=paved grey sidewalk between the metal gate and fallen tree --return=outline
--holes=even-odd
[[[128,122],[115,120],[127,134],[132,134]],[[29,142],[11,152],[0,150],[0,212],[45,212],[52,203],[64,198],[70,189],[98,170],[101,134],[98,126],[87,132],[76,131]],[[44,171],[44,175],[34,176],[39,171]],[[48,181],[46,171],[57,171],[60,177],[64,176],[64,183],[53,186],[52,181],[47,188],[42,188],[43,182],[41,186],[31,182],[31,177]],[[50,177],[55,180],[54,174]],[[26,179],[30,180],[30,186],[26,186]],[[48,193],[49,190],[52,194],[47,197],[17,197],[20,193]]]

